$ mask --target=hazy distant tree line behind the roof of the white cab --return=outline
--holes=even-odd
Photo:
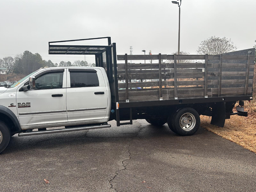
[[[30,51],[24,51],[23,54],[18,54],[14,58],[7,56],[0,58],[0,67],[7,68],[7,72],[14,72],[15,74],[28,75],[41,67],[62,67],[62,66],[95,66],[94,63],[88,64],[87,61],[76,60],[73,63],[70,61],[61,61],[60,63],[53,63],[51,60],[43,60],[39,53],[33,54]]]

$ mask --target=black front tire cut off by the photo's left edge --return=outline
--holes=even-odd
[[[12,134],[8,126],[0,121],[0,153],[9,145],[11,136]]]

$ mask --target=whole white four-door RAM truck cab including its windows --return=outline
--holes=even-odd
[[[34,79],[32,85],[29,78]],[[110,118],[110,95],[104,68],[43,68],[10,88],[0,88],[0,112],[5,114],[0,121],[6,126],[16,122],[10,134],[35,128],[102,124]]]

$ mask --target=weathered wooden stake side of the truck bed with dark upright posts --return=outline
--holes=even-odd
[[[117,64],[120,103],[252,95],[254,55],[125,54],[117,59],[124,61]]]

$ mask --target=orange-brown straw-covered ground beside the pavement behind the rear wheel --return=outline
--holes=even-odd
[[[248,117],[233,115],[226,119],[223,128],[211,125],[211,117],[201,116],[201,127],[256,153],[256,113],[247,108]]]

